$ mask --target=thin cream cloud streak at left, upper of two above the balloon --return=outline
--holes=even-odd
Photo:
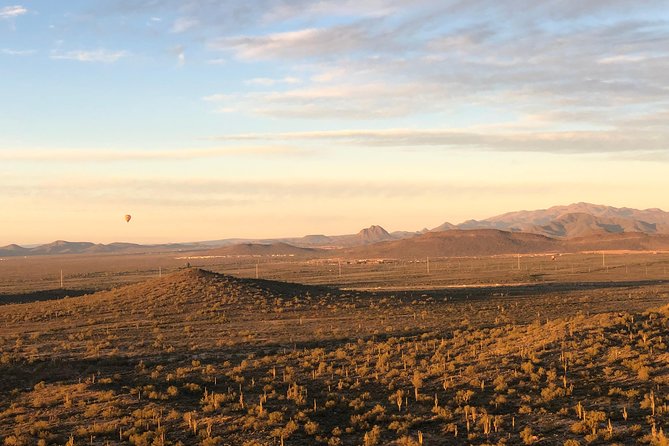
[[[241,156],[300,156],[304,149],[286,145],[236,146],[181,150],[0,149],[0,160],[15,162],[156,162]]]

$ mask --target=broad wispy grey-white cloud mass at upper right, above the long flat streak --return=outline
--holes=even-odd
[[[474,107],[488,116],[592,112],[579,128],[669,102],[661,0],[633,10],[624,0],[114,3],[123,14],[171,11],[174,30],[222,55],[210,63],[235,66],[241,59],[249,68],[269,67],[246,82],[263,91],[231,94],[236,103],[223,107],[248,115],[382,120],[437,113],[447,119],[471,115]],[[299,78],[300,88],[276,73]],[[350,95],[306,98],[314,84]],[[277,91],[267,91],[272,87]]]

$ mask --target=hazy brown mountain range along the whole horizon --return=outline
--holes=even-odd
[[[411,241],[407,241],[411,240]],[[667,245],[665,247],[665,244]],[[517,211],[431,230],[389,233],[378,225],[356,234],[306,235],[277,239],[223,239],[197,243],[141,245],[91,242],[53,243],[26,248],[0,247],[1,257],[49,254],[101,254],[199,251],[207,255],[322,256],[343,255],[490,255],[598,249],[669,249],[669,212],[575,203],[534,211]],[[430,254],[432,253],[432,254]]]

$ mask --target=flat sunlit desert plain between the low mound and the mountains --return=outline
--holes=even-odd
[[[0,300],[109,289],[199,267],[236,277],[352,289],[669,280],[669,252],[606,251],[477,257],[347,258],[207,252],[0,258]],[[340,268],[341,267],[341,268]],[[61,272],[63,286],[61,287]]]

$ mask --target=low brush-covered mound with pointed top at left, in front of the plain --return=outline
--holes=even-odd
[[[0,307],[0,321],[21,321],[22,330],[44,336],[35,357],[187,352],[227,345],[239,340],[244,331],[240,327],[248,321],[291,318],[305,299],[335,294],[329,288],[188,268],[91,295],[5,305]],[[89,333],[94,325],[106,328]],[[251,339],[268,336],[263,335],[265,329],[272,329],[271,324],[257,325]],[[86,336],[81,338],[83,332]],[[79,342],[82,339],[91,342]]]

